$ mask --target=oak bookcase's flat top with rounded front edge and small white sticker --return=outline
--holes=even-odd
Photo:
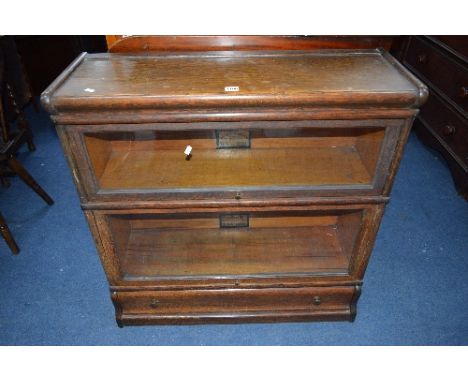
[[[83,53],[42,102],[52,114],[80,108],[415,108],[426,93],[382,50]]]

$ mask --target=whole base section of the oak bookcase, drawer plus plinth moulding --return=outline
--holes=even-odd
[[[113,292],[120,325],[354,319],[359,287]]]

